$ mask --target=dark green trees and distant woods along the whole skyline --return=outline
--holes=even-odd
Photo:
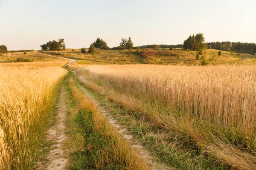
[[[243,43],[243,42],[204,42],[205,38],[202,33],[189,35],[189,37],[184,40],[183,44],[177,44],[177,45],[166,45],[166,44],[152,44],[152,45],[142,45],[139,47],[134,47],[134,44],[131,40],[131,37],[128,39],[122,38],[121,42],[118,47],[110,48],[107,45],[107,42],[105,40],[102,40],[101,38],[97,38],[96,41],[94,41],[90,48],[100,48],[100,49],[112,49],[112,50],[122,50],[122,49],[137,49],[137,48],[183,48],[184,50],[191,50],[191,51],[202,51],[206,48],[208,49],[217,49],[217,50],[223,50],[223,51],[233,51],[236,53],[247,53],[247,54],[255,54],[256,53],[256,44],[255,43]],[[46,44],[41,45],[41,49],[45,51],[61,51],[65,50],[66,46],[64,43],[64,39],[59,39],[58,41],[49,41]],[[84,52],[85,48],[83,48]],[[7,52],[7,47],[5,45],[0,45],[0,53],[3,53],[4,51]],[[92,50],[93,53],[96,52],[96,50]]]

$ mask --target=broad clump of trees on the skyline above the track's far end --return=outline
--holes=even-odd
[[[49,41],[46,44],[40,45],[41,49],[44,51],[62,51],[66,49],[63,38],[59,38],[58,41]]]

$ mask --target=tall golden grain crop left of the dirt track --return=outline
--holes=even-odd
[[[0,169],[35,168],[49,106],[67,71],[0,67],[0,73]]]

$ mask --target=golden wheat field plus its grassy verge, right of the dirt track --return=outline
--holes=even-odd
[[[79,80],[128,111],[143,113],[149,128],[164,129],[169,142],[180,136],[183,146],[208,159],[256,168],[254,65],[91,65]]]

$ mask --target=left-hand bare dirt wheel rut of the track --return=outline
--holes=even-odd
[[[58,101],[58,112],[55,117],[56,123],[47,131],[47,141],[53,142],[52,146],[48,148],[50,151],[47,155],[47,162],[44,162],[39,169],[41,170],[64,170],[68,162],[68,150],[64,145],[67,136],[66,120],[67,120],[67,106],[66,106],[66,89],[64,85],[61,87],[61,93]]]

